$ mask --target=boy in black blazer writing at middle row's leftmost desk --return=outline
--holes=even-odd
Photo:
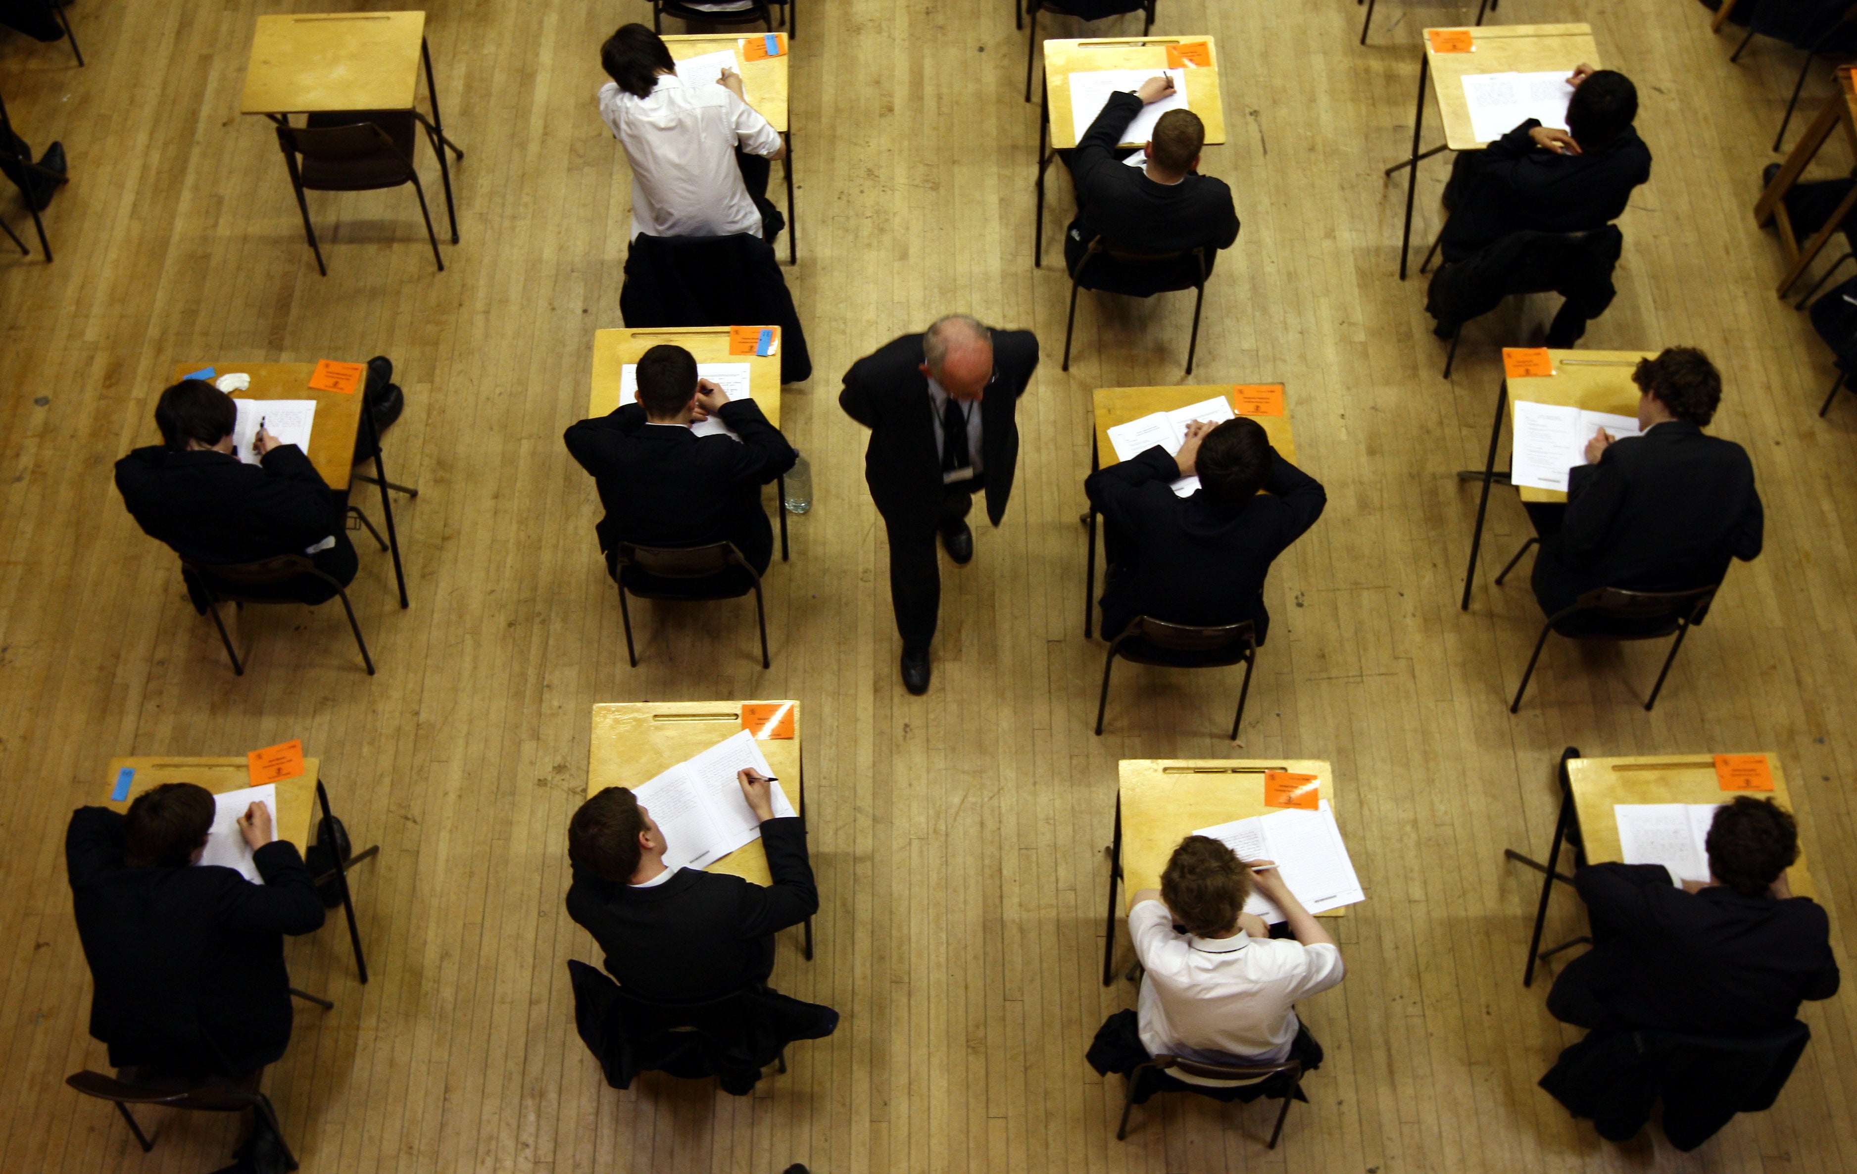
[[[344,529],[345,498],[329,489],[301,448],[264,429],[253,442],[258,464],[241,463],[232,451],[236,422],[232,398],[204,379],[184,379],[162,392],[154,424],[165,444],[137,448],[115,464],[128,513],[184,559],[258,563],[308,554],[323,574],[351,583],[358,559]],[[238,591],[305,604],[336,594],[316,576]],[[204,611],[202,600],[195,606]]]

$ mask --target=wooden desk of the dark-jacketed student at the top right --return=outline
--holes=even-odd
[[[1411,154],[1385,169],[1393,175],[1400,167],[1409,167],[1406,175],[1406,230],[1398,247],[1398,277],[1406,280],[1406,254],[1411,251],[1411,202],[1419,184],[1419,163],[1441,150],[1480,150],[1484,141],[1471,126],[1471,106],[1463,98],[1463,76],[1486,72],[1543,72],[1565,69],[1569,74],[1578,63],[1603,69],[1599,63],[1599,45],[1593,43],[1590,24],[1499,24],[1489,28],[1458,26],[1450,32],[1471,33],[1476,46],[1467,54],[1441,54],[1432,48],[1432,30],[1422,30],[1419,41],[1419,106],[1411,115]],[[1443,32],[1443,30],[1441,30]],[[1424,89],[1426,78],[1435,82],[1437,113],[1445,123],[1445,141],[1426,152],[1419,150],[1419,136],[1424,130]]]

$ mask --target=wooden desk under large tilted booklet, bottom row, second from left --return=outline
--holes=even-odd
[[[618,702],[592,708],[592,747],[587,754],[587,797],[605,788],[643,786],[685,758],[702,754],[715,743],[741,730],[741,706],[787,702],[741,700],[685,700],[685,702]],[[793,810],[806,812],[806,780],[800,762],[800,704],[793,706],[793,737],[761,741],[761,754]],[[771,884],[767,853],[761,841],[745,843],[704,871],[728,873],[754,884]],[[808,944],[812,929],[806,931]],[[812,957],[812,946],[806,955]]]

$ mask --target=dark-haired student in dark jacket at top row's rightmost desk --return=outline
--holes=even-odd
[[[1638,137],[1638,89],[1621,72],[1578,65],[1567,78],[1567,128],[1528,119],[1482,150],[1463,150],[1445,186],[1441,243],[1465,260],[1510,232],[1584,232],[1616,221],[1651,178]]]

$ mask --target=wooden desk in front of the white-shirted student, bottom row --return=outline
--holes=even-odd
[[[1109,918],[1103,931],[1103,986],[1112,981],[1116,921],[1127,912],[1116,901],[1116,884],[1127,894],[1161,888],[1161,871],[1179,841],[1201,827],[1268,815],[1281,808],[1265,804],[1265,771],[1315,775],[1320,795],[1335,806],[1335,776],[1315,758],[1123,758],[1118,763],[1116,836],[1109,849]],[[1341,918],[1331,908],[1318,918]]]

